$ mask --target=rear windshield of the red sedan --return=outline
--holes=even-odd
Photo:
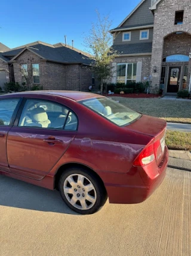
[[[94,112],[97,112],[119,127],[131,124],[141,117],[140,113],[137,113],[114,100],[110,100],[109,98],[93,98],[81,101],[80,103],[89,109],[94,110]]]

